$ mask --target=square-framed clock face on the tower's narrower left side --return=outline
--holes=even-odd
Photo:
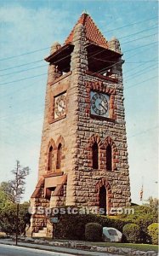
[[[65,108],[66,108],[65,96],[66,94],[64,93],[54,98],[54,118],[55,119],[65,115]]]

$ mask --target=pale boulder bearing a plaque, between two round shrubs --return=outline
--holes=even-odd
[[[111,227],[103,228],[103,241],[121,241],[122,233]]]

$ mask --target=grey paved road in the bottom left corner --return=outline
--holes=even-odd
[[[48,251],[43,251],[39,249],[15,247],[15,246],[4,245],[4,244],[0,244],[0,255],[1,256],[47,256],[47,255],[73,256],[73,254],[68,254],[68,253],[54,253],[54,252],[48,252]]]

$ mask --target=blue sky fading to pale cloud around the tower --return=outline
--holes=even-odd
[[[107,40],[120,40],[131,197],[157,197],[157,1],[0,0],[0,183],[16,160],[29,166],[28,201],[37,183],[48,65],[87,10]],[[139,191],[143,185],[143,202]]]

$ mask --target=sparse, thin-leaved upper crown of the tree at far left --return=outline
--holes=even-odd
[[[20,198],[25,193],[25,179],[29,174],[29,167],[20,166],[20,161],[16,160],[16,166],[11,172],[14,174],[14,179],[9,182],[1,183],[3,192],[7,195],[9,201],[20,201]]]

